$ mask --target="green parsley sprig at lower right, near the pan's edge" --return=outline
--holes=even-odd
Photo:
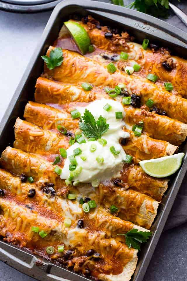
[[[126,234],[117,234],[124,235],[126,239],[126,244],[129,247],[140,250],[141,243],[147,242],[149,237],[152,235],[151,231],[138,231],[138,229],[133,228],[129,230]]]

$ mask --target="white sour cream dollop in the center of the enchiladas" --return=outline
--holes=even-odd
[[[103,107],[105,104],[110,104],[112,107],[109,112],[107,112]],[[67,179],[69,177],[69,156],[73,155],[73,150],[75,148],[80,148],[82,153],[75,156],[77,160],[77,167],[82,167],[82,172],[75,177],[75,181],[79,182],[91,182],[98,179],[103,181],[105,179],[110,179],[120,172],[123,166],[123,160],[126,160],[126,154],[119,143],[120,138],[129,138],[129,133],[124,132],[122,128],[125,125],[123,119],[116,119],[116,112],[122,112],[123,117],[125,117],[125,112],[120,102],[109,99],[95,100],[91,102],[86,107],[76,107],[76,109],[84,114],[85,109],[88,109],[94,116],[95,120],[98,120],[99,116],[102,115],[106,119],[106,123],[109,124],[109,129],[106,133],[101,136],[101,138],[107,141],[105,146],[101,145],[98,140],[87,141],[86,143],[74,143],[70,148],[67,149],[67,159],[65,160],[62,173],[60,175],[61,179]],[[96,150],[91,152],[91,145],[96,145]],[[113,155],[110,151],[110,147],[114,146],[115,150],[120,151],[118,155]],[[82,156],[86,157],[86,160],[82,160]],[[102,157],[104,161],[100,164],[96,160],[97,157]],[[84,158],[85,159],[85,158]]]

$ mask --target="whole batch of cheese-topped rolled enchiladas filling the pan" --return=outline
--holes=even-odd
[[[186,139],[187,63],[155,45],[152,50],[143,49],[130,41],[127,32],[111,31],[112,40],[108,39],[109,28],[91,16],[76,23],[88,33],[94,51],[83,56],[63,49],[63,32],[49,47],[48,57],[62,47],[63,62],[51,70],[44,65],[35,102],[29,101],[24,120],[15,122],[14,147],[1,155],[0,235],[4,241],[96,280],[130,280],[138,250],[129,248],[127,238],[117,234],[132,229],[148,232],[167,190],[169,179],[149,176],[138,163],[173,155]],[[122,61],[119,54],[124,50],[129,59]],[[113,73],[107,68],[111,61],[116,67]],[[125,68],[134,62],[141,69],[128,75]],[[156,83],[146,79],[150,72],[159,78]],[[172,83],[172,91],[165,89],[165,82]],[[85,90],[82,83],[89,83],[91,89]],[[105,90],[121,84],[124,95],[113,98]],[[122,104],[127,93],[134,95],[134,104]],[[128,138],[120,139],[120,145],[132,160],[117,177],[112,175],[95,186],[89,181],[74,185],[60,178],[67,159],[59,151],[68,151],[70,140],[75,142],[80,131],[80,118],[71,112],[99,100],[122,104],[125,126],[121,130]],[[152,112],[147,100],[154,101]],[[139,136],[133,131],[138,122],[143,122]],[[89,212],[83,203],[89,203]]]

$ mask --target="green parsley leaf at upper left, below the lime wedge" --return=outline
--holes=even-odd
[[[60,47],[51,50],[49,56],[41,56],[47,67],[51,70],[56,66],[60,66],[63,62],[63,52]]]

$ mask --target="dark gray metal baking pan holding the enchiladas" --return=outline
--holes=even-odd
[[[26,103],[28,100],[33,100],[34,98],[34,85],[36,79],[43,71],[43,61],[40,59],[40,56],[44,55],[49,45],[53,44],[54,40],[58,37],[58,32],[63,22],[68,20],[69,16],[73,13],[79,14],[80,16],[92,14],[103,24],[115,24],[115,26],[123,27],[124,30],[129,31],[136,37],[137,42],[141,43],[147,37],[151,42],[169,47],[176,55],[178,54],[185,58],[185,54],[187,54],[187,34],[162,20],[144,13],[102,2],[81,0],[79,1],[79,5],[77,5],[76,0],[61,2],[51,14],[37,49],[0,123],[0,153],[7,145],[13,145],[13,126],[15,120],[18,116],[23,118]],[[186,174],[187,145],[183,146],[183,152],[185,153],[183,164],[180,170],[171,178],[169,189],[159,205],[157,216],[151,227],[153,237],[149,239],[148,243],[142,246],[142,250],[138,253],[138,264],[132,276],[132,281],[143,280],[169,212]],[[41,281],[89,280],[86,277],[61,268],[53,263],[46,262],[3,241],[0,241],[0,260],[20,270],[22,273]]]

